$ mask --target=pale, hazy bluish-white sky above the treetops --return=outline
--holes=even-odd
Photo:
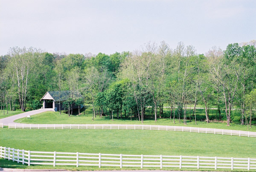
[[[256,39],[256,0],[0,0],[0,55],[10,47],[113,54],[161,41],[175,49]]]

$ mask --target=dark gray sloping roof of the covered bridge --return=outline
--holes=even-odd
[[[55,100],[55,102],[58,101],[65,101],[68,100],[69,98],[72,98],[73,94],[73,99],[77,99],[82,97],[80,93],[77,93],[77,91],[48,91],[48,93],[52,96],[52,98]]]

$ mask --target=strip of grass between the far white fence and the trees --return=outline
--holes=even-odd
[[[198,114],[198,118],[202,118],[204,116],[204,110],[197,110],[200,112]],[[167,112],[166,112],[167,113]],[[37,115],[31,116],[29,118],[20,118],[17,119],[15,122],[24,123],[24,124],[142,124],[141,121],[138,121],[136,118],[132,118],[132,120],[128,118],[120,118],[117,119],[116,117],[112,121],[109,116],[103,116],[100,118],[96,116],[94,121],[92,120],[92,111],[91,109],[87,109],[85,113],[81,113],[80,116],[68,116],[65,113],[59,114],[59,112],[43,112]],[[84,115],[85,114],[85,115]],[[144,120],[144,125],[169,125],[169,126],[186,126],[186,127],[202,127],[202,128],[216,128],[216,129],[226,129],[226,130],[242,130],[242,131],[252,131],[256,132],[256,126],[252,128],[249,127],[247,129],[246,125],[234,124],[231,123],[230,126],[227,126],[226,122],[210,122],[207,124],[205,121],[197,121],[197,125],[195,121],[187,120],[187,125],[184,125],[182,119],[179,121],[177,120],[177,116],[175,117],[175,124],[170,120],[170,118],[158,118],[157,122],[155,123],[154,119],[146,118]]]

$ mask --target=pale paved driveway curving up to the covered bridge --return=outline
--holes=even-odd
[[[14,116],[9,116],[7,118],[2,118],[2,119],[0,119],[0,123],[3,123],[3,125],[6,125],[6,126],[8,126],[9,123],[19,124],[14,121],[16,119],[25,118],[27,115],[31,116],[31,115],[35,115],[35,114],[46,112],[46,111],[53,111],[53,109],[38,109],[38,110],[32,110],[32,111],[25,112],[25,113],[20,113],[20,114],[14,115]]]

